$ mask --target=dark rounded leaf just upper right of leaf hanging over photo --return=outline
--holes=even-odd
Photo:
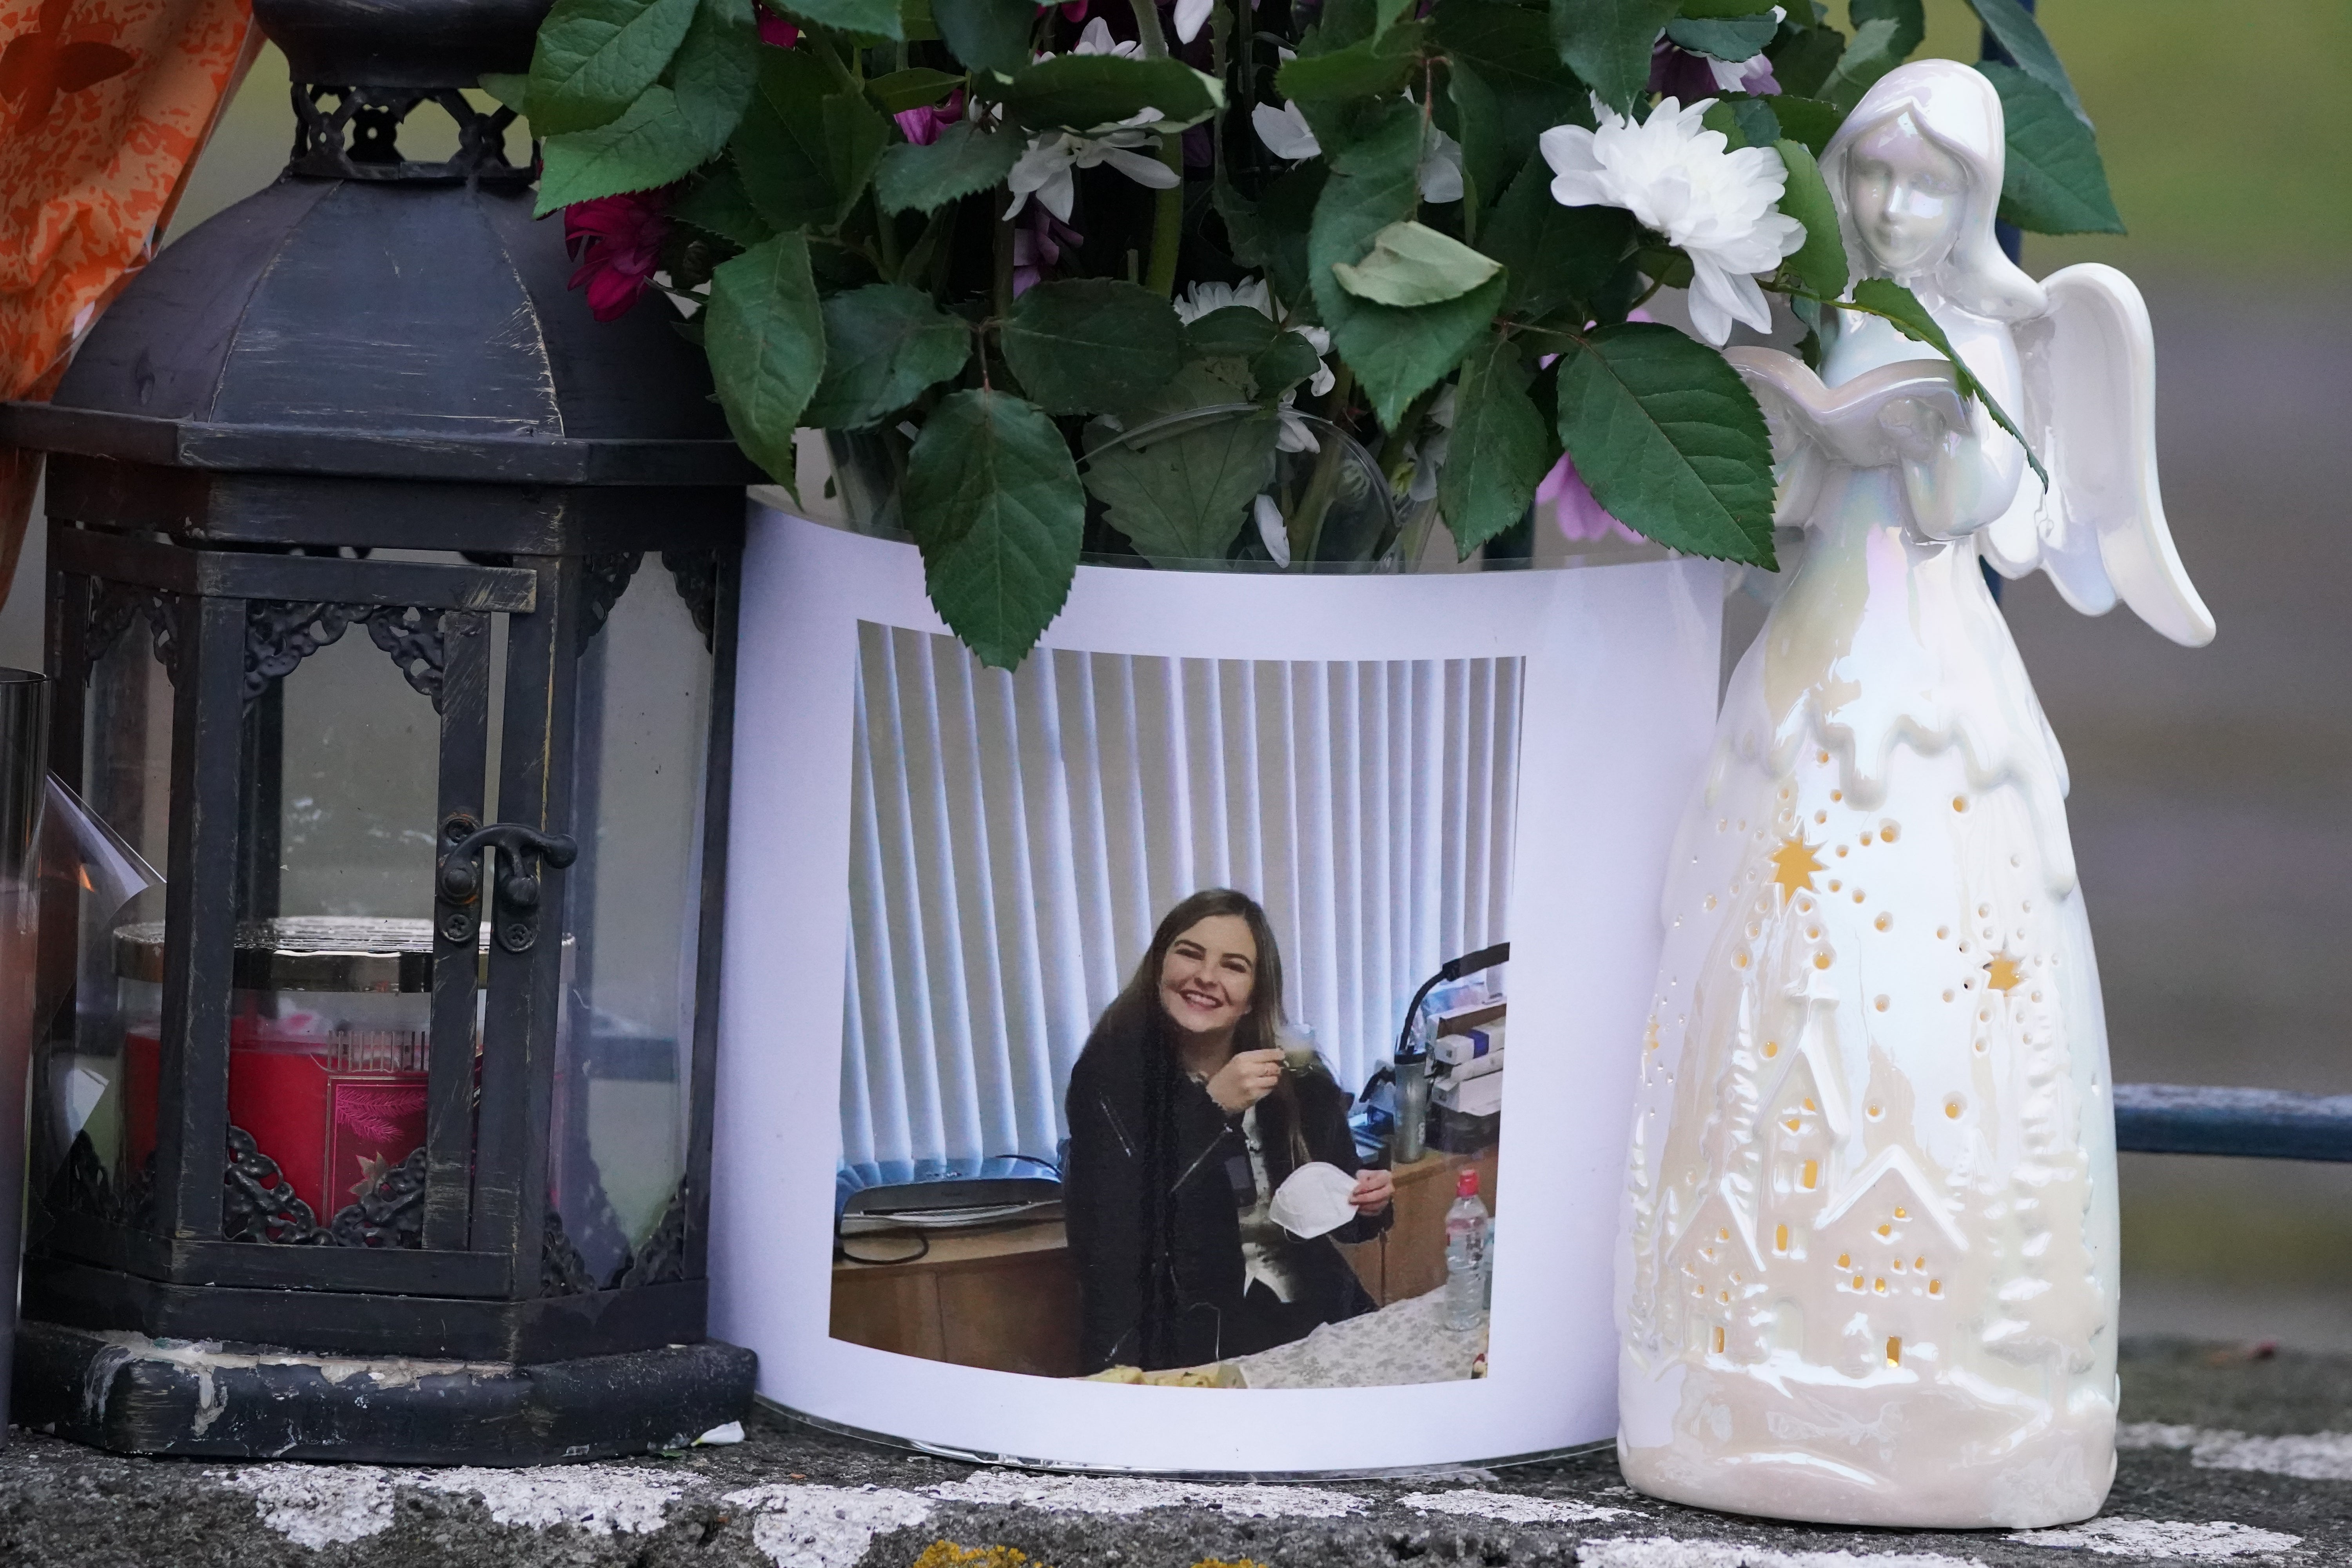
[[[1014,301],[1004,362],[1049,414],[1115,414],[1183,364],[1176,310],[1131,282],[1042,282]]]

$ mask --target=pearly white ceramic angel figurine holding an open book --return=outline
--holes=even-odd
[[[1733,350],[1806,538],[1731,677],[1665,884],[1618,1244],[1618,1453],[1646,1493],[1877,1526],[2051,1526],[2114,1476],[2107,1037],[2065,762],[1978,557],[2213,621],[2157,498],[2152,346],[2105,266],[1994,244],[2002,103],[1886,75],[1820,167],[1856,275],[1820,376]]]

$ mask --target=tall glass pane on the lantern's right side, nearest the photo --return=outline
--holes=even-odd
[[[579,661],[550,1199],[612,1284],[687,1171],[713,658],[647,557]]]

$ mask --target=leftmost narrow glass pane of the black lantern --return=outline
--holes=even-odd
[[[172,679],[136,614],[92,663],[80,701],[82,804],[160,875],[172,860]],[[125,1046],[136,1027],[153,1032],[162,987],[120,985],[113,950],[118,929],[162,919],[162,884],[134,893],[134,884],[85,877],[75,898],[73,1025],[52,1034],[42,1070],[49,1126],[38,1147],[54,1164],[87,1138],[94,1164],[85,1178],[103,1173],[111,1194],[125,1194],[141,1185],[143,1152],[155,1147],[155,1084],[132,1079]],[[54,1171],[40,1175],[54,1180]],[[78,1201],[108,1206],[87,1190]]]

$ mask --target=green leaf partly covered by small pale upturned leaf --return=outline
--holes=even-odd
[[[1489,277],[1461,299],[1414,310],[1348,294],[1334,266],[1362,261],[1383,228],[1411,216],[1418,165],[1421,113],[1411,103],[1392,103],[1371,134],[1331,158],[1331,176],[1308,230],[1315,308],[1385,425],[1395,425],[1414,397],[1451,371],[1486,331],[1508,282]]]

